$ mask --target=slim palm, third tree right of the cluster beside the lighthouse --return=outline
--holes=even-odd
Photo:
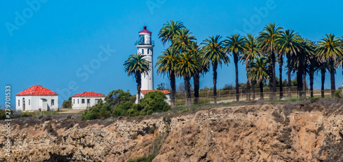
[[[259,46],[257,46],[257,38],[254,35],[248,34],[247,37],[244,38],[246,43],[246,51],[244,51],[241,59],[244,60],[246,63],[246,73],[248,74],[248,71],[250,70],[250,64],[253,62],[253,60],[261,55],[261,52],[259,50]],[[246,81],[246,89],[247,89],[247,99],[250,99],[250,96],[248,96],[250,92],[250,84],[248,75],[247,81]],[[255,100],[255,80],[251,81],[251,89],[252,89],[252,100]]]

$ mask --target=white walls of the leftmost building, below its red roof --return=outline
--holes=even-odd
[[[23,109],[23,98],[25,98],[25,110]],[[58,96],[16,96],[16,110],[18,111],[36,111],[38,109],[43,109],[43,105],[39,103],[42,102],[41,98],[47,99],[47,105],[50,109],[58,109]],[[51,105],[51,100],[54,100],[54,105]],[[46,106],[45,106],[46,107]]]

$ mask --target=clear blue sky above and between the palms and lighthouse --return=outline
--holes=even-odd
[[[316,0],[1,1],[0,104],[5,103],[8,84],[12,85],[12,104],[15,94],[36,84],[57,92],[59,103],[70,96],[70,87],[73,94],[107,95],[117,89],[135,94],[136,83],[123,71],[123,62],[137,52],[134,42],[144,25],[155,41],[155,63],[166,48],[158,31],[170,20],[182,21],[199,43],[215,35],[258,35],[268,23],[318,41],[325,33],[343,36],[342,6],[342,1]],[[232,63],[218,71],[217,87],[235,82],[230,59]],[[169,84],[167,77],[154,72],[155,88],[159,83]],[[342,83],[342,69],[337,73],[336,87]],[[239,64],[239,74],[239,82],[246,82],[245,65]],[[181,82],[178,79],[176,84]],[[329,75],[325,84],[329,87]],[[314,85],[320,88],[320,77],[315,77]],[[200,86],[213,86],[211,72],[200,79]]]

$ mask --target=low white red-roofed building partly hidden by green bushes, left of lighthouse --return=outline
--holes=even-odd
[[[99,99],[105,100],[106,95],[96,92],[82,92],[71,96],[71,104],[73,109],[91,108],[99,102]]]

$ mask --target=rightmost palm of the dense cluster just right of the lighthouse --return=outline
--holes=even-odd
[[[202,51],[200,51],[200,46],[197,42],[191,42],[189,46],[189,53],[193,55],[201,65],[200,71],[198,73],[193,74],[193,83],[194,83],[194,104],[199,104],[199,89],[200,89],[200,74],[204,74],[204,72],[208,72],[208,68],[206,65],[201,64],[203,62],[203,55]]]

